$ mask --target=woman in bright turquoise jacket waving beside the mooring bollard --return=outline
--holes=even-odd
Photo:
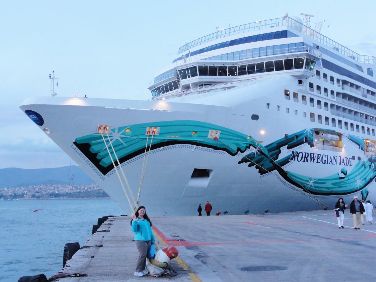
[[[145,270],[146,257],[149,253],[151,244],[155,243],[154,234],[152,231],[152,222],[146,214],[144,206],[139,206],[132,220],[132,232],[136,233],[135,242],[138,250],[138,260],[136,263],[135,276],[144,276],[148,272]]]

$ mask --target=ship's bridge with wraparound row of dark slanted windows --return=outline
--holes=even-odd
[[[153,98],[156,98],[176,96],[184,91],[204,88],[208,85],[278,73],[304,79],[313,75],[315,64],[320,60],[316,49],[301,43],[294,43],[294,46],[283,49],[273,48],[272,51],[257,50],[252,53],[252,57],[247,58],[247,54],[233,55],[232,53],[232,55],[225,54],[186,62],[174,68],[175,76],[172,81],[153,85],[149,90],[152,91]]]

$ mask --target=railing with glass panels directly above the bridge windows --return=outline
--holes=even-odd
[[[252,50],[252,52],[248,50]],[[174,63],[174,66],[177,67],[183,64],[197,62],[197,61],[241,61],[241,60],[252,59],[252,58],[260,58],[260,57],[273,56],[273,55],[284,55],[284,54],[290,54],[290,53],[302,53],[302,52],[308,52],[309,54],[312,54],[314,56],[319,56],[319,53],[320,53],[317,49],[309,47],[309,46],[280,48],[280,49],[255,51],[255,52],[253,52],[253,49],[248,49],[248,50],[244,50],[246,51],[245,54],[239,54],[239,55],[229,55],[229,53],[226,53],[226,54],[215,55],[215,56],[208,56],[208,55],[190,56],[185,59],[176,61]],[[239,52],[240,51],[232,52],[232,53],[239,53]]]

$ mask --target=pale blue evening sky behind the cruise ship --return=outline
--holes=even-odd
[[[71,159],[18,108],[27,97],[151,98],[155,73],[186,42],[258,20],[300,13],[321,33],[376,56],[374,1],[1,1],[0,168],[47,168]],[[300,16],[302,17],[302,16]],[[329,25],[329,27],[327,27]],[[74,162],[72,162],[74,164]]]

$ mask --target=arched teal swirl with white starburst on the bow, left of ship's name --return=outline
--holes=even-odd
[[[150,134],[148,136],[146,134],[148,127],[159,127],[158,135],[152,136]],[[210,130],[220,131],[220,140],[209,138]],[[144,153],[146,147],[149,150],[150,144],[151,150],[175,144],[193,144],[222,150],[232,156],[237,155],[238,152],[244,152],[251,146],[257,146],[255,139],[243,133],[215,124],[193,120],[134,124],[111,129],[108,135],[106,133],[103,133],[103,135],[93,133],[76,138],[74,145],[103,174],[107,174],[114,168],[105,142],[112,158],[116,160],[116,153],[120,163]]]

